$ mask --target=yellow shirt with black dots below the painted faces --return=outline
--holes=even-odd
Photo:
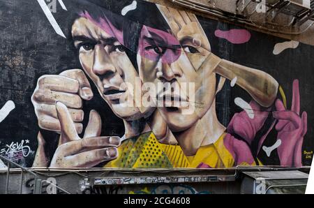
[[[224,138],[225,133],[214,144],[200,147],[195,156],[185,156],[179,145],[160,144],[154,133],[144,133],[123,142],[118,158],[104,168],[197,168],[202,163],[229,168],[234,166],[234,158],[223,144]]]

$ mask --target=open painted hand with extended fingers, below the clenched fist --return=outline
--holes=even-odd
[[[57,102],[56,110],[62,144],[54,153],[50,168],[91,168],[117,158],[121,140],[119,137],[100,137],[101,120],[96,111],[91,110],[84,138],[80,138],[66,105]]]

